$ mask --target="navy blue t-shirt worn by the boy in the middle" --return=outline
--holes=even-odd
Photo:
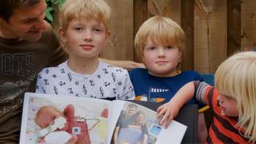
[[[136,100],[147,102],[169,102],[170,98],[173,98],[174,94],[187,82],[202,81],[201,75],[193,70],[183,71],[174,77],[156,77],[142,68],[131,70],[129,74]],[[187,103],[199,104],[195,98]],[[203,105],[199,106],[199,108],[202,107]]]

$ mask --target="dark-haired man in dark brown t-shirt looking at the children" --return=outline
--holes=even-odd
[[[66,59],[44,21],[45,10],[45,0],[0,1],[0,143],[18,142],[23,95],[34,91],[38,72]],[[112,63],[137,66],[136,62]]]

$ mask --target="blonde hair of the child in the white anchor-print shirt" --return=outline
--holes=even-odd
[[[103,0],[66,0],[59,11],[59,24],[66,30],[74,18],[95,18],[109,29],[110,6]]]

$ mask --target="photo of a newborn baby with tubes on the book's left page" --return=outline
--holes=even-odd
[[[109,104],[84,99],[26,94],[21,142],[106,143]]]

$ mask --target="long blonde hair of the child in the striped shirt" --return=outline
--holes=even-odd
[[[256,141],[256,52],[234,54],[218,67],[215,86],[238,102],[238,126],[250,142]]]

